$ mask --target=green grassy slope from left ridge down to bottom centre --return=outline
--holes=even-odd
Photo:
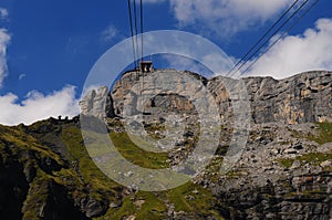
[[[31,129],[38,130],[44,126],[51,126],[50,122],[43,121],[34,124]],[[214,210],[218,200],[207,189],[191,182],[162,192],[138,191],[125,195],[122,186],[107,178],[94,165],[83,145],[81,130],[75,125],[52,125],[51,130],[56,130],[56,136],[64,143],[68,158],[62,158],[49,146],[40,144],[35,137],[27,134],[20,126],[0,127],[0,140],[7,143],[7,145],[8,143],[13,145],[10,148],[10,155],[15,155],[24,166],[33,166],[37,169],[37,176],[30,185],[22,210],[25,219],[38,219],[38,212],[46,200],[48,182],[50,180],[65,186],[70,191],[70,197],[76,201],[91,197],[94,200],[103,201],[107,206],[112,202],[118,205],[116,208],[108,208],[104,216],[96,219],[121,219],[132,214],[136,216],[136,219],[160,219],[166,218],[170,205],[174,205],[177,212],[187,212],[201,218],[214,216],[217,219],[222,219]],[[48,138],[53,137],[54,135]],[[125,134],[113,133],[111,137],[126,159],[148,168],[167,167],[165,154],[146,154],[136,147]],[[51,142],[48,138],[45,139]],[[7,145],[3,143],[0,142],[0,154],[3,163],[6,163],[8,153],[4,149]],[[24,151],[33,151],[35,158],[24,158]],[[52,174],[44,172],[38,166],[38,160],[44,157],[54,159],[62,166],[62,169],[52,171]]]

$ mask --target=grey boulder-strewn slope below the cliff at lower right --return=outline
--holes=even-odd
[[[303,137],[315,124],[255,125],[241,159],[217,182],[208,172],[198,181],[210,186],[226,203],[230,219],[330,219],[331,143]],[[326,142],[328,137],[325,138]]]

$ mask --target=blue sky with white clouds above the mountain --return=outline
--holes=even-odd
[[[200,34],[237,61],[294,1],[230,2],[144,0],[145,31]],[[248,75],[281,78],[332,70],[331,8],[330,0],[320,0]],[[77,114],[93,64],[131,35],[124,0],[0,0],[0,123],[8,125]],[[156,65],[187,69],[190,63],[165,59]]]

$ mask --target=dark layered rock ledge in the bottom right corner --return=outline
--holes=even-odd
[[[218,195],[227,205],[229,219],[321,219],[329,220],[331,199],[326,196],[331,174],[290,177],[263,187],[242,186]]]

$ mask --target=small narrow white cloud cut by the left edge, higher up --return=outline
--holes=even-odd
[[[6,29],[0,29],[0,87],[2,86],[2,81],[7,75],[7,59],[6,51],[10,42],[10,35]]]

